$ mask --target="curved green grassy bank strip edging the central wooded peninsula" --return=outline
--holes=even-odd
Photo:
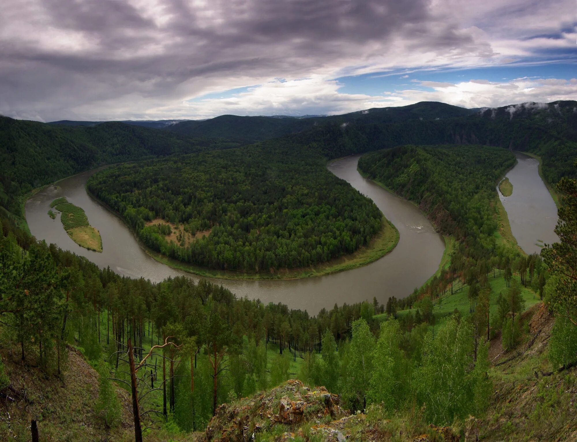
[[[167,256],[144,247],[143,244],[140,245],[143,246],[147,253],[158,262],[173,267],[174,269],[187,271],[188,273],[219,279],[280,280],[312,278],[366,266],[387,255],[395,248],[398,242],[399,231],[392,222],[383,216],[380,231],[373,237],[368,245],[359,248],[353,254],[340,256],[340,258],[331,259],[330,261],[317,266],[279,269],[273,273],[248,273],[231,270],[207,269],[206,267],[193,266],[176,259],[168,258]]]

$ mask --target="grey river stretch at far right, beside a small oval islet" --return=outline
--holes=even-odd
[[[517,243],[527,254],[540,253],[544,243],[559,241],[553,232],[557,206],[539,176],[539,161],[520,152],[515,152],[515,157],[517,164],[505,175],[513,184],[513,193],[503,197],[499,192],[499,198]]]

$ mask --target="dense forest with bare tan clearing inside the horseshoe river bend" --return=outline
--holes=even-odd
[[[323,157],[282,143],[111,167],[87,188],[148,247],[216,269],[317,265],[368,244],[383,223]]]

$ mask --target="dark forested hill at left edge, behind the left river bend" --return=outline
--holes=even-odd
[[[0,205],[17,213],[19,195],[100,165],[227,146],[118,122],[63,127],[0,116]]]

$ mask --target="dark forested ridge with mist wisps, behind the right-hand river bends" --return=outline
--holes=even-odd
[[[574,109],[577,101],[556,101],[479,109],[458,118],[381,123],[374,122],[378,118],[373,122],[358,119],[316,126],[291,138],[293,143],[319,150],[329,158],[405,144],[499,146],[541,156],[545,179],[556,184],[563,176],[577,176],[573,167],[577,156],[577,111]]]

